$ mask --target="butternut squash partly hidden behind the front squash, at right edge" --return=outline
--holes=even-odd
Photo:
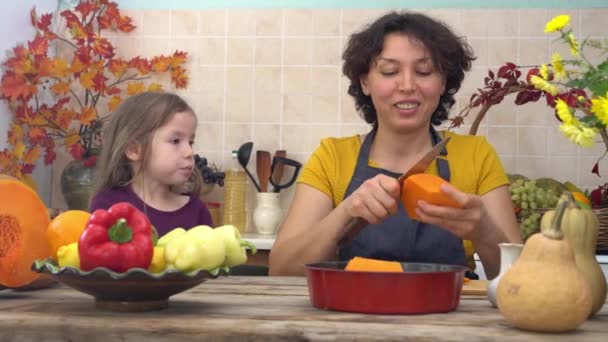
[[[576,266],[591,286],[593,304],[589,316],[593,316],[606,302],[606,277],[595,257],[599,220],[593,211],[579,208],[579,204],[569,193],[567,196],[570,197],[570,205],[564,212],[562,232],[564,238],[570,243]],[[555,217],[555,210],[543,215],[540,224],[541,231],[551,227],[553,217]]]

